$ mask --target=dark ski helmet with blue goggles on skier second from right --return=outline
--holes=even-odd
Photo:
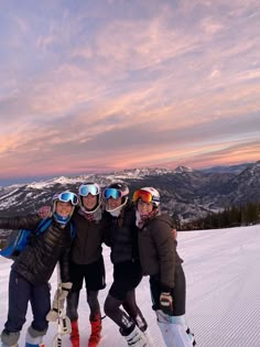
[[[110,184],[102,194],[104,199],[106,200],[106,210],[109,213],[116,212],[116,210],[121,210],[121,208],[127,204],[128,202],[128,194],[129,194],[129,188],[126,185],[126,183],[120,183],[116,182]],[[109,198],[119,198],[121,197],[121,205],[118,206],[117,208],[109,209],[107,200]]]

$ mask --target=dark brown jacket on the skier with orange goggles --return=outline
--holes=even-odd
[[[167,214],[158,215],[139,230],[138,242],[143,274],[160,274],[162,290],[174,288],[175,268],[183,260],[176,251],[173,223]]]

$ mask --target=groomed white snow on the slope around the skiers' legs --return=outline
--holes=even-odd
[[[187,282],[186,317],[195,333],[198,347],[260,346],[260,225],[178,232],[178,253],[184,259]],[[100,291],[102,305],[111,284],[112,265],[109,249],[104,248],[107,288]],[[11,261],[0,258],[0,326],[3,326],[8,305],[8,275]],[[52,276],[53,292],[56,273]],[[163,347],[154,313],[151,310],[148,278],[137,290],[138,303],[149,322],[156,347]],[[80,346],[87,346],[89,310],[85,291],[79,303]],[[21,334],[20,347],[31,322],[31,311]],[[124,341],[117,326],[106,317],[100,347],[120,347]],[[55,335],[51,324],[45,346],[51,347]],[[0,327],[1,328],[1,327]],[[67,336],[63,346],[71,346]]]

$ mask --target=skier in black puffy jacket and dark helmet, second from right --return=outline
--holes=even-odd
[[[119,326],[129,346],[143,347],[151,344],[148,324],[136,301],[142,269],[138,256],[136,209],[129,204],[128,194],[129,188],[123,183],[113,183],[104,191],[107,212],[104,218],[108,226],[105,242],[111,248],[113,264],[113,282],[105,301],[105,313]]]

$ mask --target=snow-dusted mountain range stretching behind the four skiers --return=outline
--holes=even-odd
[[[50,204],[55,192],[77,192],[84,182],[106,186],[115,181],[126,182],[131,193],[141,186],[155,186],[162,196],[162,207],[181,219],[205,216],[232,204],[243,205],[260,199],[260,161],[249,164],[239,174],[202,172],[191,167],[136,169],[110,174],[89,174],[77,177],[56,177],[25,185],[0,188],[0,215],[35,212]]]

